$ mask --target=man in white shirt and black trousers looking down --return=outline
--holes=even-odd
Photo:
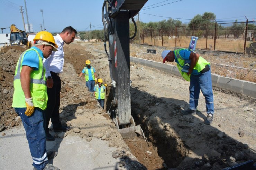
[[[44,67],[46,69],[45,77],[47,79],[47,94],[48,102],[47,108],[44,111],[45,134],[47,141],[54,141],[55,138],[49,133],[49,121],[51,119],[54,132],[66,132],[71,129],[69,126],[62,126],[60,122],[60,92],[61,79],[59,74],[62,73],[64,65],[63,45],[70,44],[74,41],[77,31],[68,26],[63,29],[60,34],[54,36],[55,42],[58,45],[58,51],[53,52],[49,58],[44,60]]]

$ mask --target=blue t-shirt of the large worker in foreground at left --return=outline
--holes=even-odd
[[[31,47],[31,49],[35,49],[39,53],[40,57],[44,59],[43,52],[39,48],[34,46],[34,47]],[[31,50],[25,53],[22,61],[22,66],[34,67],[34,70],[38,70],[39,58],[36,51]]]

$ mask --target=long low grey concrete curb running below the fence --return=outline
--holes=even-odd
[[[99,53],[105,53],[105,51],[102,51],[102,50],[94,50],[94,51]],[[155,61],[131,57],[131,56],[130,56],[130,62],[139,63],[143,66],[152,67],[167,73],[174,74],[176,76],[181,76],[176,66],[162,64],[160,62],[155,62]],[[256,98],[256,83],[233,79],[229,77],[223,77],[217,74],[212,74],[211,77],[212,77],[212,86],[234,91],[236,93],[240,93],[246,96]]]

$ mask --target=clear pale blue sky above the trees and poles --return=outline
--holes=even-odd
[[[26,0],[29,24],[34,32],[42,28],[49,32],[61,32],[66,26],[77,31],[103,29],[101,12],[103,0]],[[24,21],[27,23],[24,0],[0,0],[0,28],[15,24],[24,30],[20,7],[23,6]],[[40,10],[43,10],[43,13]],[[197,14],[212,12],[216,21],[256,21],[256,0],[148,0],[139,12],[139,20],[158,22],[177,19],[188,23]],[[43,16],[42,16],[43,14]],[[135,20],[138,17],[135,16]],[[44,19],[44,24],[43,24]],[[0,32],[2,33],[2,32]],[[4,29],[3,33],[10,33]]]

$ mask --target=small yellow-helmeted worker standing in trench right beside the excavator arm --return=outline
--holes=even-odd
[[[94,96],[97,101],[100,103],[100,106],[104,109],[104,100],[105,100],[105,85],[102,84],[103,80],[101,78],[98,79],[98,84],[94,87]]]

